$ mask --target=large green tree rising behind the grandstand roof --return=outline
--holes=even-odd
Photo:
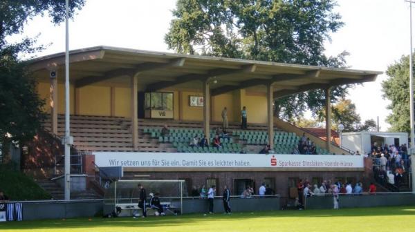
[[[343,25],[334,7],[333,0],[178,0],[165,41],[188,54],[345,67],[347,52],[324,55],[324,40]],[[333,88],[332,101],[347,87]],[[275,114],[293,121],[323,106],[324,92],[313,90],[277,99]]]

